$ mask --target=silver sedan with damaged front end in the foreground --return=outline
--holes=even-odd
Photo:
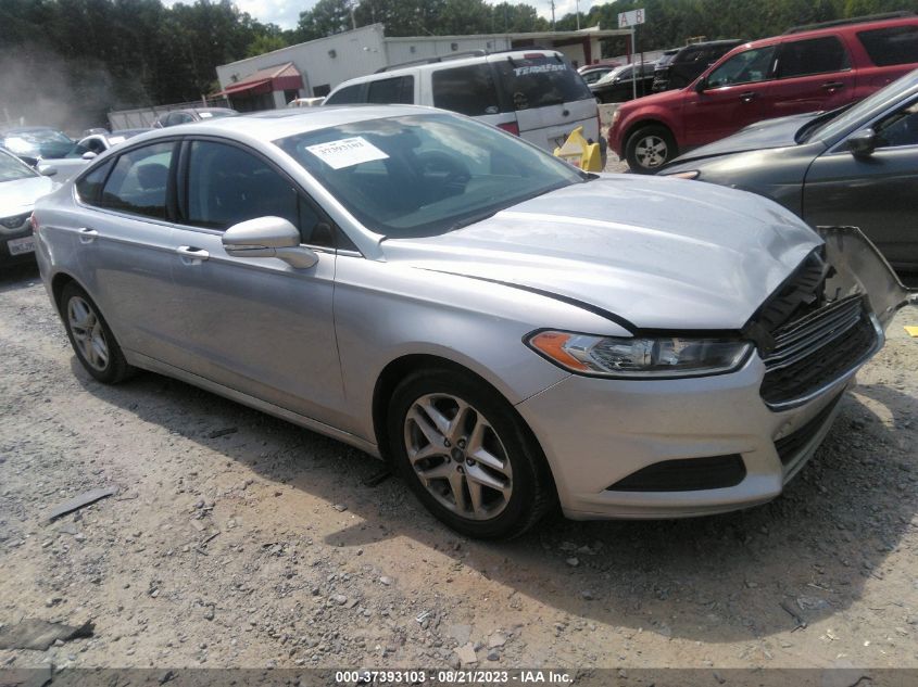
[[[152,370],[389,459],[480,537],[556,505],[775,498],[907,297],[856,231],[413,106],[142,135],[35,218],[92,377]]]

